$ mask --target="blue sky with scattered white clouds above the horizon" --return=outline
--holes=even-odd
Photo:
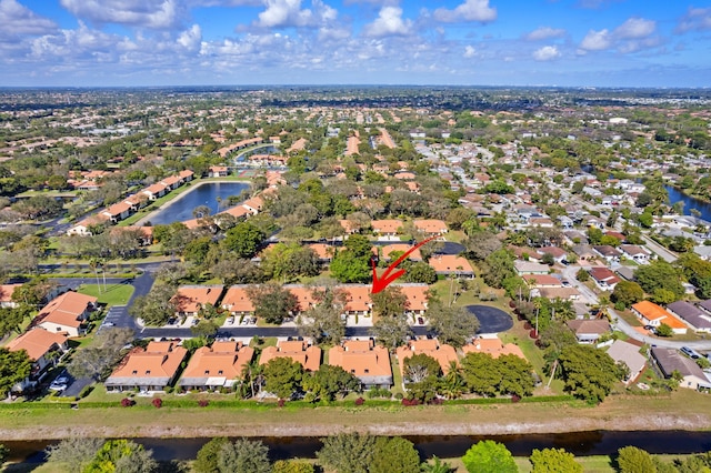
[[[0,85],[711,87],[687,0],[0,0]]]

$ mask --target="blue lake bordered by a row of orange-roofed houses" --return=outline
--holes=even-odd
[[[239,195],[246,189],[249,189],[249,184],[244,182],[203,182],[152,213],[148,220],[153,225],[184,222],[194,219],[192,211],[200,205],[209,207],[214,214],[227,209],[218,208],[218,198],[227,201],[230,195]]]

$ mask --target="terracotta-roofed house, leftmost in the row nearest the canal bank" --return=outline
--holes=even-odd
[[[104,385],[109,392],[164,391],[178,376],[188,350],[174,342],[150,342],[131,350]]]

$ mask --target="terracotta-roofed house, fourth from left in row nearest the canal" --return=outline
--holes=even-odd
[[[348,340],[329,350],[329,364],[353,374],[367,389],[392,386],[390,353],[372,340]]]

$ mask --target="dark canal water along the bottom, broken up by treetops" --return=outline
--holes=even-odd
[[[609,455],[622,446],[633,445],[650,453],[702,453],[711,451],[711,432],[650,431],[650,432],[570,432],[525,435],[429,435],[405,436],[424,457],[462,456],[480,440],[494,440],[507,445],[514,456],[529,456],[533,449],[565,449],[575,456]],[[153,451],[156,460],[190,460],[210,439],[136,439]],[[269,446],[272,460],[316,457],[322,446],[318,437],[252,437]],[[10,460],[40,463],[43,450],[53,441],[2,442],[10,449]]]

